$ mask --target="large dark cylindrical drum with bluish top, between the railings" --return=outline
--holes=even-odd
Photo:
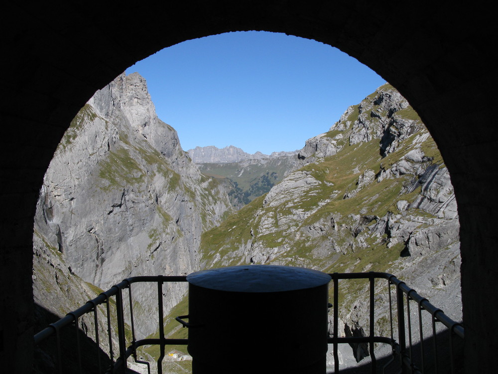
[[[330,279],[273,265],[187,276],[193,373],[324,374]]]

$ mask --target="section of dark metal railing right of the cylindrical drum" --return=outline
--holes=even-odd
[[[451,318],[446,316],[441,309],[436,308],[432,305],[426,298],[420,296],[415,290],[409,288],[404,282],[397,279],[394,275],[381,272],[369,272],[369,273],[331,273],[333,282],[333,337],[329,338],[329,343],[333,344],[333,354],[334,354],[334,372],[339,373],[339,358],[338,358],[338,344],[358,344],[366,343],[369,345],[369,351],[371,355],[371,371],[372,373],[377,373],[377,359],[375,357],[375,343],[389,344],[392,350],[392,357],[385,363],[381,369],[381,373],[385,373],[386,369],[390,365],[395,365],[396,360],[398,361],[397,368],[398,372],[402,374],[412,373],[412,374],[424,374],[424,373],[443,373],[440,369],[440,364],[438,358],[441,353],[438,354],[438,349],[441,348],[441,344],[438,343],[438,334],[436,332],[436,323],[441,323],[447,328],[449,333],[449,340],[447,347],[447,352],[449,352],[449,365],[450,370],[445,370],[444,373],[456,374],[457,368],[455,365],[456,354],[455,354],[455,338],[464,339],[464,328],[460,323],[453,321]],[[368,279],[369,280],[369,335],[367,337],[339,337],[338,336],[338,319],[339,319],[339,280],[344,279]],[[385,279],[387,281],[387,292],[389,300],[389,337],[375,336],[374,335],[374,290],[375,290],[375,280]],[[395,289],[395,312],[397,320],[397,333],[398,339],[394,338],[393,329],[393,301],[391,295],[391,288]],[[406,309],[405,302],[406,300]],[[410,313],[410,302],[415,302],[417,304],[417,319],[418,319],[418,345],[419,354],[417,355],[418,360],[414,360],[414,339],[412,331],[412,316]],[[428,313],[431,316],[431,326],[432,329],[429,334],[424,336],[424,329],[422,326],[422,312]],[[431,350],[427,349],[428,341],[432,340]],[[430,356],[429,358],[427,356]],[[432,359],[432,363],[428,359]],[[418,361],[418,362],[416,362]],[[418,364],[418,365],[417,365]]]

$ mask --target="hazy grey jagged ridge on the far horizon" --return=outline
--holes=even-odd
[[[229,164],[243,162],[246,160],[261,160],[281,156],[292,156],[297,154],[298,151],[272,152],[271,155],[265,155],[261,152],[249,154],[234,146],[228,146],[222,149],[215,146],[207,146],[195,147],[195,149],[190,149],[187,152],[195,164]]]

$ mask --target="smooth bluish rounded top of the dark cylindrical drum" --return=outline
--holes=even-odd
[[[197,271],[187,281],[218,291],[281,292],[322,286],[330,275],[318,270],[279,265],[241,265]]]

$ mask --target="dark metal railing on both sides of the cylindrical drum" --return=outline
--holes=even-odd
[[[339,357],[338,357],[338,345],[339,344],[367,344],[369,347],[369,355],[371,357],[371,373],[385,373],[394,370],[396,373],[414,373],[414,374],[427,374],[427,373],[443,373],[439,368],[443,367],[445,369],[444,373],[458,373],[458,368],[456,367],[455,353],[455,340],[460,339],[461,342],[464,339],[464,329],[460,323],[451,320],[446,316],[441,309],[434,307],[429,301],[421,297],[417,292],[409,288],[404,282],[398,280],[395,276],[388,273],[381,272],[369,272],[369,273],[331,273],[332,277],[332,287],[333,287],[333,334],[332,337],[328,338],[328,343],[333,345],[333,357],[334,357],[334,372],[340,373],[339,368]],[[339,326],[339,281],[340,280],[351,280],[351,279],[366,279],[369,282],[369,334],[368,336],[350,336],[350,337],[340,337],[338,326]],[[375,282],[386,280],[386,287],[384,287],[388,294],[389,301],[389,332],[390,336],[375,336]],[[164,333],[164,308],[163,308],[163,283],[165,282],[186,282],[185,276],[138,276],[127,278],[121,283],[111,287],[108,291],[102,292],[98,297],[93,300],[88,301],[85,305],[75,310],[74,312],[68,313],[64,318],[59,321],[50,324],[47,328],[39,332],[34,336],[34,344],[40,345],[45,342],[50,336],[55,336],[56,341],[56,355],[55,360],[57,361],[58,372],[60,374],[64,373],[63,369],[63,351],[61,349],[60,333],[61,330],[67,329],[69,326],[76,327],[76,333],[74,337],[74,344],[69,347],[71,351],[77,351],[77,361],[78,361],[78,371],[83,373],[82,360],[96,360],[98,361],[99,373],[125,373],[127,368],[127,360],[132,357],[135,363],[146,365],[147,372],[150,374],[150,364],[145,361],[140,361],[137,358],[137,348],[145,345],[157,345],[160,349],[160,356],[157,360],[157,373],[162,373],[162,361],[165,356],[165,346],[167,345],[187,345],[188,339],[167,339]],[[132,292],[131,285],[139,282],[155,282],[157,284],[157,318],[159,321],[159,337],[154,339],[139,339],[135,337],[135,321],[133,318],[133,303],[132,303]],[[392,288],[394,288],[392,290]],[[125,303],[123,290],[127,289],[128,292],[128,304],[126,305],[126,318],[129,321],[129,327],[131,329],[131,336],[128,334],[126,338],[125,334]],[[394,298],[391,293],[395,294]],[[114,297],[114,299],[112,299]],[[394,299],[394,301],[393,301]],[[110,303],[111,302],[111,303]],[[413,323],[412,315],[410,312],[410,302],[417,304],[417,316],[418,316],[418,336],[413,337]],[[116,318],[112,318],[112,307],[115,307]],[[105,306],[105,315],[107,316],[107,343],[104,343],[99,334],[99,313],[98,306]],[[78,328],[79,319],[86,314],[93,314],[93,324],[95,328],[94,336],[91,337],[96,344],[97,348],[97,358],[83,358],[80,340],[82,331]],[[395,313],[393,317],[393,313]],[[428,334],[424,334],[423,323],[422,323],[422,313],[429,315],[431,319],[431,331]],[[101,313],[102,314],[102,313]],[[112,321],[117,326],[113,326]],[[447,344],[440,342],[438,334],[436,331],[436,324],[440,323],[445,327],[449,333],[449,338]],[[394,325],[394,327],[393,327]],[[397,328],[395,328],[397,327]],[[397,339],[394,335],[397,330]],[[118,349],[116,352],[118,354],[115,360],[115,345],[114,340],[118,341]],[[418,340],[418,343],[416,341]],[[432,340],[432,345],[429,347],[429,342]],[[460,342],[460,343],[461,343]],[[375,346],[379,344],[387,344],[390,346],[390,358],[384,360],[387,362],[379,363],[379,360],[375,357]],[[418,349],[415,350],[415,345]],[[108,352],[108,359],[110,365],[106,366],[101,363],[101,357],[103,353],[101,348],[104,348]],[[448,363],[442,363],[443,354],[441,352],[442,348],[445,348],[445,352],[448,354]],[[67,347],[65,347],[67,348]],[[108,349],[107,349],[108,348]],[[414,352],[417,351],[417,354]],[[450,369],[449,371],[446,369]]]

